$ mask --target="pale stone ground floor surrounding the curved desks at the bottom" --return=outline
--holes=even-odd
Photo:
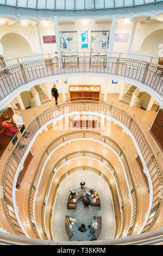
[[[80,181],[85,181],[85,186],[94,188],[101,200],[101,209],[90,206],[84,208],[82,201],[77,204],[77,210],[67,210],[67,199],[69,190],[76,190],[80,187]],[[105,181],[97,174],[91,172],[78,172],[69,175],[62,181],[55,202],[52,216],[52,232],[55,241],[70,241],[65,230],[65,216],[70,215],[77,218],[77,227],[84,223],[87,226],[91,223],[91,216],[102,217],[102,230],[98,240],[113,239],[115,230],[114,211],[112,208],[111,192]]]

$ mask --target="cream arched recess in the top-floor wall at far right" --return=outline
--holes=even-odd
[[[163,29],[158,29],[148,34],[143,40],[140,51],[147,52],[149,56],[160,57],[163,54],[159,45],[163,42]]]

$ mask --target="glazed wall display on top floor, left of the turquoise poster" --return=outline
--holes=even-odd
[[[62,52],[76,53],[78,51],[77,31],[60,31],[59,34]]]

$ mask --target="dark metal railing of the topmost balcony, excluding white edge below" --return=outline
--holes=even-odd
[[[41,78],[68,74],[104,74],[116,77],[130,78],[152,89],[158,95],[163,95],[162,66],[132,58],[123,54],[108,53],[109,56],[76,56],[54,57],[30,60],[0,70],[0,100],[5,101],[18,88]],[[153,60],[153,59],[152,59]],[[39,82],[38,82],[39,83]],[[31,85],[32,86],[32,85]],[[5,103],[5,102],[4,102]],[[162,102],[161,102],[162,103]]]

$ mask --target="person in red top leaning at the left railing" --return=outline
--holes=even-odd
[[[11,117],[7,115],[7,117],[5,118],[5,121],[3,121],[2,123],[2,126],[4,128],[5,135],[9,136],[10,139],[12,139],[12,144],[15,145],[18,139],[16,136],[16,133],[18,132],[19,129],[15,129],[15,127],[11,124],[11,120],[12,120]],[[21,145],[20,143],[18,143],[18,148],[22,149],[24,147],[25,147],[24,145]]]

